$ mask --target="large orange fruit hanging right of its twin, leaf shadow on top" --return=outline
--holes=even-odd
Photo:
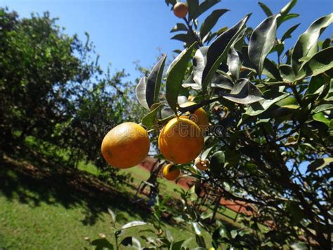
[[[204,146],[202,130],[188,118],[169,120],[159,133],[159,150],[171,162],[190,163]]]

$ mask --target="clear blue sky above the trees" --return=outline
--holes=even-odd
[[[185,0],[184,0],[185,1]],[[273,13],[287,4],[285,0],[261,0],[270,6]],[[247,25],[255,27],[266,15],[254,0],[222,0],[216,8],[229,8],[231,11],[222,16],[218,27],[232,26],[247,13],[253,13]],[[8,6],[22,17],[32,12],[49,11],[52,17],[58,17],[58,25],[66,28],[70,35],[77,33],[84,39],[84,32],[89,32],[91,41],[100,54],[100,65],[105,69],[112,63],[112,70],[125,68],[131,74],[130,80],[138,77],[133,61],[139,60],[141,65],[150,66],[159,55],[157,48],[163,53],[181,49],[182,43],[170,40],[171,28],[181,20],[176,18],[164,0],[0,0],[0,6]],[[287,46],[294,44],[296,37],[304,32],[308,25],[322,15],[333,11],[330,0],[299,0],[294,13],[300,17],[284,23],[278,37],[283,31],[296,23],[301,23],[294,32]],[[209,11],[210,13],[210,11]],[[332,35],[332,26],[322,38]],[[169,56],[170,57],[170,56]]]

